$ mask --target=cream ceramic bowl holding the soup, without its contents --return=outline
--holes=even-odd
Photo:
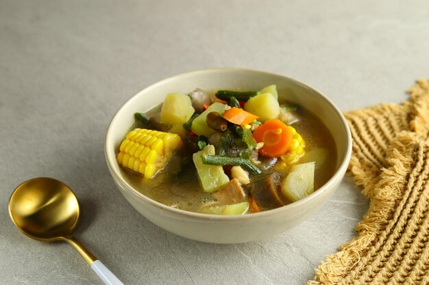
[[[273,210],[241,216],[219,216],[171,208],[147,198],[133,189],[121,175],[115,150],[134,122],[136,111],[145,111],[164,100],[171,92],[188,93],[200,87],[206,90],[240,88],[260,90],[277,85],[284,96],[315,113],[328,127],[337,148],[336,172],[325,185],[308,197]],[[108,127],[105,154],[110,173],[119,190],[136,210],[156,225],[196,241],[208,243],[245,243],[289,230],[315,213],[339,186],[352,151],[352,139],[345,118],[320,92],[289,77],[258,70],[217,68],[178,74],[154,83],[127,100]]]

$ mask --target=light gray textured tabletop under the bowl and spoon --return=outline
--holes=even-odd
[[[399,103],[429,76],[428,19],[427,1],[0,0],[0,284],[100,284],[72,247],[12,225],[10,193],[35,176],[73,188],[75,235],[125,284],[304,284],[367,209],[350,178],[285,234],[197,243],[117,191],[103,157],[110,118],[154,81],[222,66],[304,81],[343,111]]]

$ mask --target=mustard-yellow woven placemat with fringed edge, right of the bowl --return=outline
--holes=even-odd
[[[308,284],[429,284],[429,82],[408,93],[401,105],[345,113],[349,173],[369,210]]]

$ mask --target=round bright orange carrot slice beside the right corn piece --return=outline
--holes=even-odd
[[[263,142],[259,153],[264,157],[280,157],[285,154],[292,144],[292,131],[278,119],[265,121],[253,133],[254,139]]]

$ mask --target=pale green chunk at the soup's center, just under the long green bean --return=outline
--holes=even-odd
[[[219,190],[230,182],[230,178],[223,172],[219,165],[204,164],[201,157],[204,155],[215,154],[215,146],[209,144],[203,150],[193,154],[193,161],[197,168],[199,182],[205,192],[211,193]]]

